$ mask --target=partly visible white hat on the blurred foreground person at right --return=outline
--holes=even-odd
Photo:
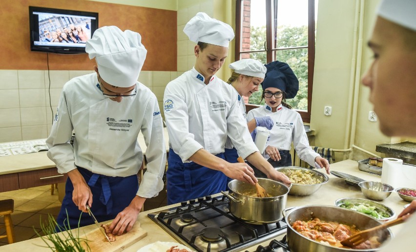
[[[378,16],[416,31],[416,0],[382,0]]]

